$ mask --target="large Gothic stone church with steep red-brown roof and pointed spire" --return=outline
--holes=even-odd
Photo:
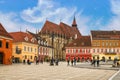
[[[52,57],[58,58],[59,60],[65,60],[66,44],[81,36],[75,18],[72,26],[63,22],[55,24],[47,20],[39,32],[39,35],[46,39],[48,45],[53,47]]]

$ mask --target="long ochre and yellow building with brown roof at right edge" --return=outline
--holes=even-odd
[[[91,31],[92,56],[100,60],[120,59],[120,31]]]

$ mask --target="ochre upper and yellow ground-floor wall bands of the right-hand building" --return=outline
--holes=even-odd
[[[115,52],[116,54],[105,54],[105,53],[92,53],[92,56],[99,56],[100,59],[104,56],[105,59],[109,59],[111,57],[114,60],[115,57],[120,59],[120,40],[92,40],[92,49],[119,49],[119,52]]]

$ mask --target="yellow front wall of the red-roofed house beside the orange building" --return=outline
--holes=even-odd
[[[16,46],[18,46],[18,48],[20,48],[22,50],[21,54],[16,54]],[[26,51],[24,50],[24,46],[26,47]],[[28,47],[29,47],[29,51],[28,51]],[[31,51],[31,48],[32,48],[32,51]],[[30,59],[30,61],[33,62],[34,57],[38,55],[38,45],[37,44],[32,44],[32,43],[26,43],[26,42],[13,43],[13,53],[12,53],[12,55],[14,57],[19,57],[20,62],[22,62],[25,59],[25,55],[26,55],[27,59]],[[32,56],[32,59],[31,59],[31,56]]]

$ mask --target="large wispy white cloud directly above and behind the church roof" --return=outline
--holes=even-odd
[[[60,20],[69,25],[72,24],[74,14],[76,13],[76,19],[78,28],[84,33],[88,33],[89,27],[86,23],[89,19],[82,16],[82,10],[77,12],[76,7],[63,7],[53,0],[38,0],[38,4],[33,8],[25,9],[21,13],[22,19],[30,23],[44,23],[46,18],[54,23],[59,24]]]

